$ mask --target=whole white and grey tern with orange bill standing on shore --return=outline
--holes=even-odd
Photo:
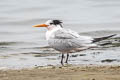
[[[51,48],[59,51],[61,64],[64,65],[64,54],[67,54],[65,63],[68,64],[69,53],[80,52],[89,48],[97,47],[96,42],[108,39],[116,34],[93,38],[91,36],[80,35],[71,29],[63,28],[62,20],[48,20],[44,24],[33,25],[33,27],[46,27],[46,40]]]

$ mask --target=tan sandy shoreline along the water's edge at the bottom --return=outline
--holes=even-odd
[[[0,70],[0,80],[120,80],[120,66],[35,67]]]

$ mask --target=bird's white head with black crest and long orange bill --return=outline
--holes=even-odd
[[[62,22],[60,20],[48,20],[44,24],[34,25],[33,27],[46,27],[48,30],[51,30],[55,27],[62,28]]]

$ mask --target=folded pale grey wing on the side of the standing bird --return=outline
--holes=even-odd
[[[74,31],[61,29],[54,33],[54,37],[48,40],[51,47],[58,51],[68,51],[75,48],[81,48],[91,44],[91,39],[86,36],[80,36]]]

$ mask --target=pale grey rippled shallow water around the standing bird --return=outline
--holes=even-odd
[[[41,49],[47,45],[44,37],[46,29],[32,27],[48,19],[63,20],[65,28],[85,35],[99,37],[116,33],[119,37],[119,9],[119,0],[1,0],[0,62],[3,63],[0,63],[0,67],[19,68],[59,64],[60,54],[53,54],[56,52],[52,53],[46,48]],[[93,58],[93,54],[90,53],[94,52],[102,53]],[[111,63],[120,64],[119,46],[80,53],[85,53],[86,56],[71,58],[71,64],[106,64],[104,61],[101,62],[105,59],[117,59]]]

